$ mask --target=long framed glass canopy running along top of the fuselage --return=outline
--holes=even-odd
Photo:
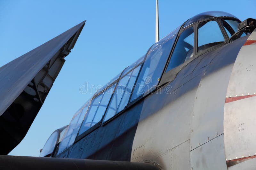
[[[174,80],[180,70],[196,57],[228,44],[240,22],[226,12],[204,12],[160,39],[76,112],[58,145],[57,155],[102,124],[115,119],[133,103]]]

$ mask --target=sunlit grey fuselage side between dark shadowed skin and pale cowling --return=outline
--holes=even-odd
[[[246,39],[193,60],[169,84],[172,94],[145,98],[131,161],[154,162],[162,169],[227,169],[224,103],[234,62]]]

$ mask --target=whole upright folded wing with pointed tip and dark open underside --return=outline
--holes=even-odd
[[[0,67],[0,154],[25,137],[85,21]]]

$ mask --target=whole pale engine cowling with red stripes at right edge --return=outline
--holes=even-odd
[[[230,76],[224,109],[224,143],[226,160],[256,155],[256,30],[241,48]],[[247,165],[248,162],[248,165]],[[241,164],[238,165],[238,164]],[[253,169],[256,162],[246,160],[228,169]],[[243,167],[243,168],[242,168]]]

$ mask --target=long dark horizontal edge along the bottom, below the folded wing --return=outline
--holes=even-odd
[[[4,164],[3,164],[4,162]],[[0,155],[0,169],[4,170],[159,170],[151,163],[122,161],[63,159]]]

